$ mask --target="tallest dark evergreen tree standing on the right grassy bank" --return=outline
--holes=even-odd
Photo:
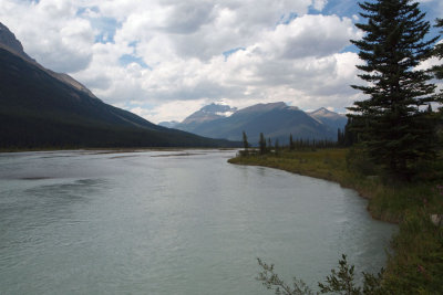
[[[350,117],[358,123],[352,127],[372,160],[401,176],[415,160],[435,155],[430,140],[434,130],[424,107],[436,99],[432,95],[435,85],[429,83],[427,72],[415,66],[431,56],[436,38],[424,40],[430,23],[424,21],[418,2],[377,0],[359,6],[364,11],[360,15],[368,22],[356,25],[365,35],[351,42],[364,61],[357,67],[368,84],[352,87],[369,99],[349,108],[354,112]]]

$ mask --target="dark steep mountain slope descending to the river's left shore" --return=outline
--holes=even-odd
[[[0,29],[0,148],[233,145],[105,104],[69,75],[38,64],[4,25]]]

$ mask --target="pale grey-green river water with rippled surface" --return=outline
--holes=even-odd
[[[310,286],[378,271],[395,231],[337,183],[235,151],[0,154],[0,294],[272,294],[257,257]]]

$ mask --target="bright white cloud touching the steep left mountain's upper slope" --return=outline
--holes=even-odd
[[[71,73],[87,67],[94,35],[90,23],[75,17],[70,1],[2,0],[0,7],[1,20],[44,66]]]

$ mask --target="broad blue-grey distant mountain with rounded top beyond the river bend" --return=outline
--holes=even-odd
[[[328,125],[327,118],[330,115],[318,113],[313,117],[285,103],[257,104],[239,109],[228,117],[210,118],[208,116],[202,122],[190,120],[190,118],[198,117],[197,115],[202,114],[205,108],[192,114],[182,124],[176,125],[176,128],[202,136],[229,140],[240,140],[241,133],[245,131],[253,145],[258,143],[260,133],[272,140],[278,139],[280,144],[288,143],[290,134],[292,134],[293,139],[337,139],[337,129]],[[187,122],[193,124],[185,124]]]

